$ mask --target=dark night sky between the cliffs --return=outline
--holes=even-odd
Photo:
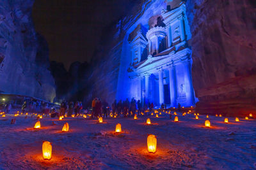
[[[129,14],[139,0],[36,0],[33,20],[36,31],[47,40],[50,60],[88,61],[100,43],[104,28]]]

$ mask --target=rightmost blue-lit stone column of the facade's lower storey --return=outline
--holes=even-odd
[[[191,61],[189,59],[186,59],[183,61],[183,64],[187,104],[188,106],[192,106],[193,104],[195,104],[195,97],[191,77]]]

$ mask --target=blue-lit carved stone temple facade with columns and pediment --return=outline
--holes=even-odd
[[[134,97],[160,106],[192,106],[191,39],[186,5],[155,1],[127,29],[116,99]]]

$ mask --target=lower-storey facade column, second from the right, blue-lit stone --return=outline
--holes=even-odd
[[[169,67],[169,80],[170,80],[170,99],[171,99],[171,106],[177,106],[177,80],[176,80],[176,70],[175,66],[172,63]]]

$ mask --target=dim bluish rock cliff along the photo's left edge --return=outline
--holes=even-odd
[[[52,101],[55,85],[46,41],[31,20],[33,0],[0,3],[0,91]]]

